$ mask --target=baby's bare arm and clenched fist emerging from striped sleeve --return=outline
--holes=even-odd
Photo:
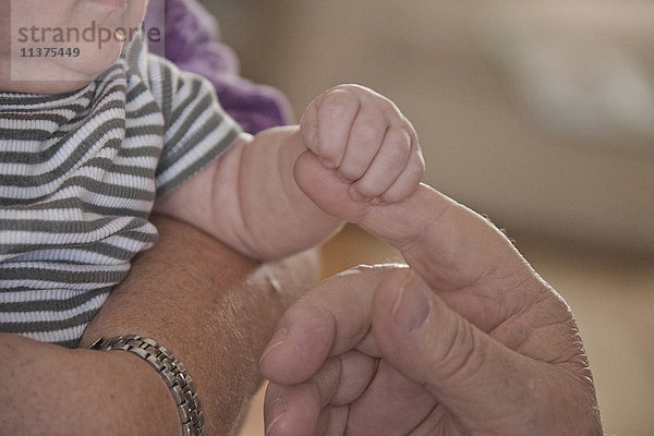
[[[156,209],[250,256],[276,258],[326,240],[373,204],[403,199],[423,169],[396,106],[343,85],[316,98],[300,126],[242,135]]]

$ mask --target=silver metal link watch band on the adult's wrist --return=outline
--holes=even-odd
[[[199,398],[195,391],[195,384],[174,354],[154,340],[136,335],[118,336],[109,339],[99,338],[89,348],[94,350],[130,351],[144,359],[159,373],[166,382],[166,386],[170,389],[182,422],[182,435],[204,435],[204,415]]]

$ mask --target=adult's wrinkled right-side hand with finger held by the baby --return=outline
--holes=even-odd
[[[602,434],[572,314],[501,232],[425,185],[362,223],[412,270],[347,271],[284,314],[268,436]]]

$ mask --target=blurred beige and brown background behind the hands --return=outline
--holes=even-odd
[[[339,83],[393,99],[425,181],[487,215],[572,306],[607,435],[654,434],[654,2],[204,0],[296,118]],[[325,276],[398,259],[348,227]],[[263,435],[261,396],[243,436]]]

